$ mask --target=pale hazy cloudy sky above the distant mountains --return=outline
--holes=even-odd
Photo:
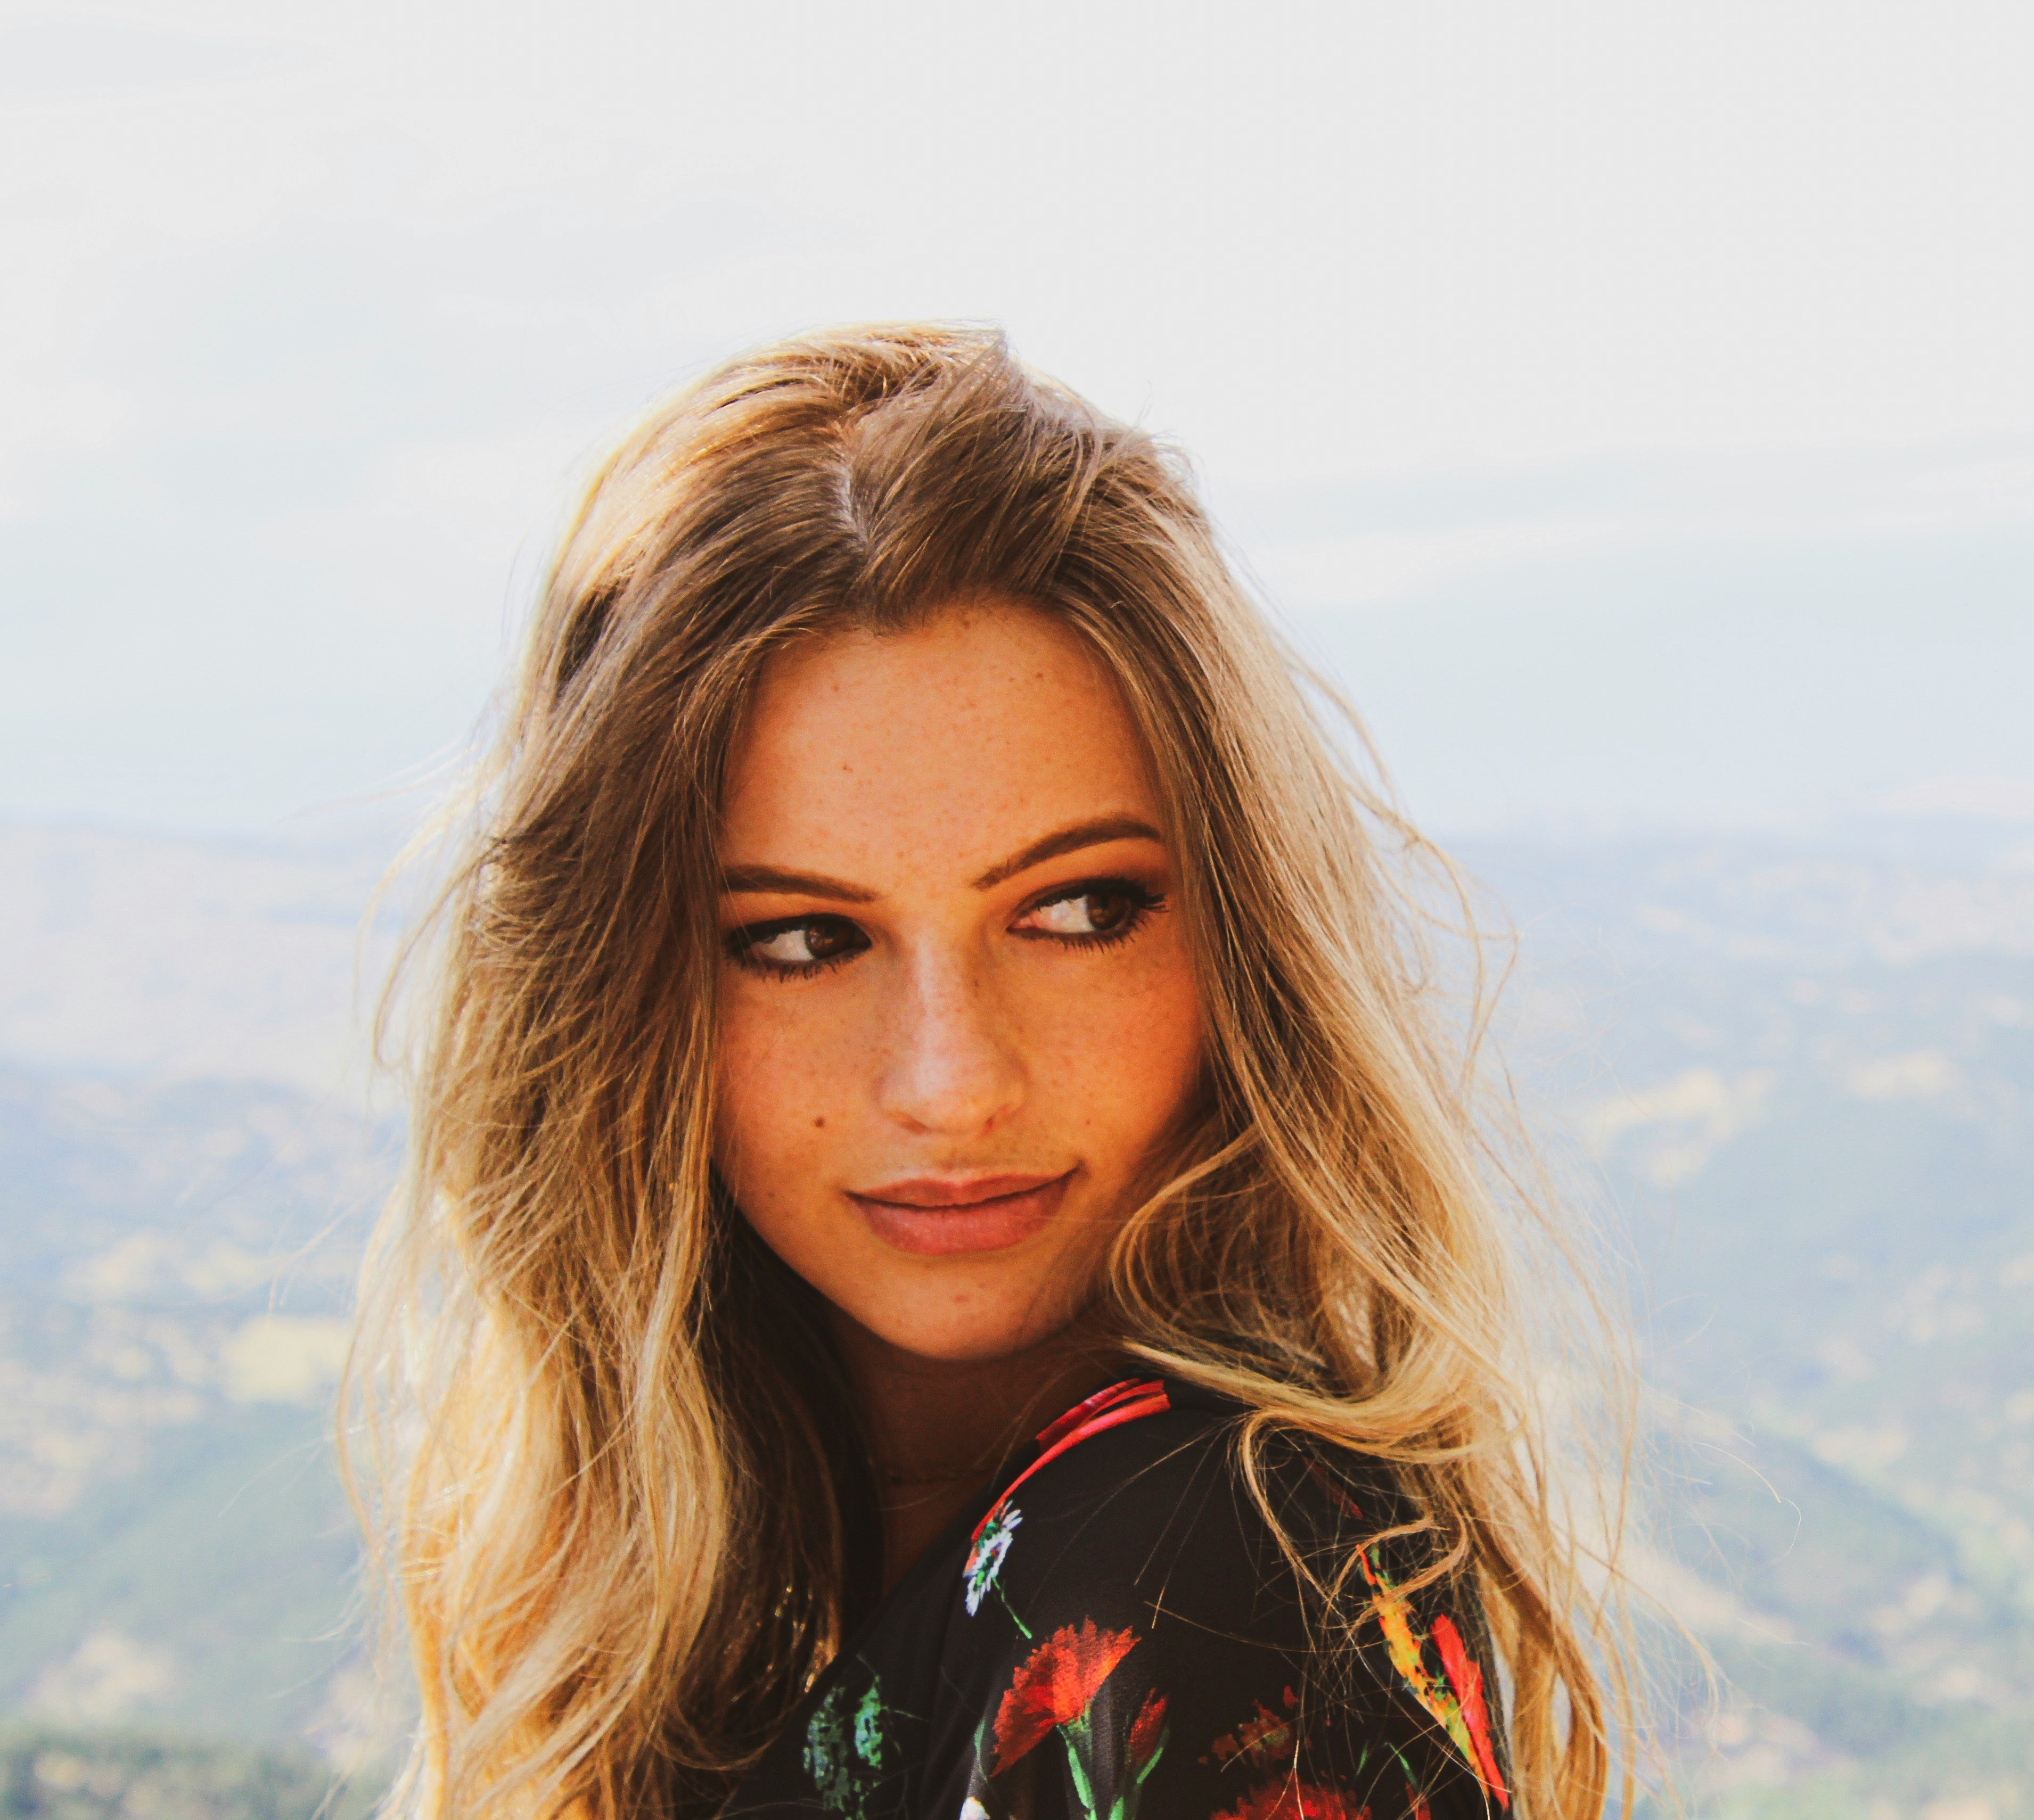
[[[1442,830],[2034,815],[2024,4],[0,4],[0,813],[458,754],[604,435],[1003,323]],[[409,797],[397,797],[409,801]]]

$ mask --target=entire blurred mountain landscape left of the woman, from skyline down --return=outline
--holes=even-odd
[[[332,1393],[397,1139],[374,874],[0,830],[8,1814],[309,1816],[372,1743]]]

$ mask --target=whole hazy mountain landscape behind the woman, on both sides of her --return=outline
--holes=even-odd
[[[386,850],[0,826],[6,1814],[307,1816],[370,1749],[330,1401]],[[1641,1576],[1727,1678],[1688,1812],[2034,1816],[2034,824],[1458,854],[1631,1263]]]

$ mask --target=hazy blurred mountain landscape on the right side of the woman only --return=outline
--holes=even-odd
[[[1469,854],[1635,1265],[1694,1812],[2034,1812],[2030,834]]]

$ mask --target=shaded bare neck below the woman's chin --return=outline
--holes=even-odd
[[[834,1332],[875,1454],[885,1592],[1017,1448],[1129,1369],[1086,1320],[962,1360],[905,1352],[838,1312]]]

